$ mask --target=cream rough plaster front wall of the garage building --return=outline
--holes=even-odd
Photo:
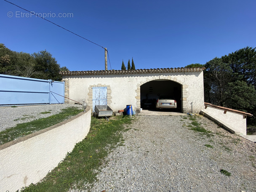
[[[114,111],[124,109],[131,104],[133,109],[139,109],[140,86],[151,80],[172,80],[182,85],[183,112],[199,113],[204,107],[203,72],[173,72],[132,75],[79,75],[63,76],[69,79],[69,97],[74,100],[85,99],[88,103],[90,85],[109,85],[111,89],[110,108]],[[91,106],[92,107],[92,106]]]

